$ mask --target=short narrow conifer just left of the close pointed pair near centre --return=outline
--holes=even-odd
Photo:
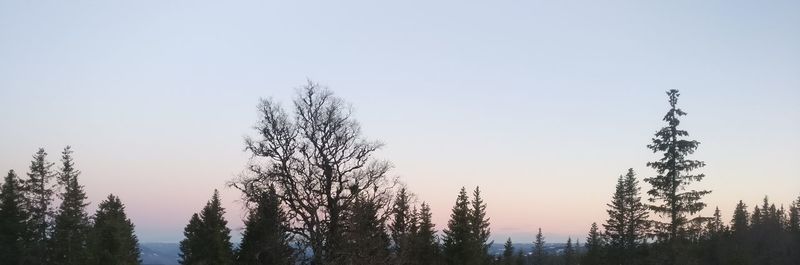
[[[419,212],[419,225],[414,234],[414,264],[434,265],[441,262],[436,225],[432,218],[431,207],[423,202]]]

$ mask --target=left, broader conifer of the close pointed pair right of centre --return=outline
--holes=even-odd
[[[442,250],[445,262],[449,265],[476,264],[474,257],[477,250],[471,249],[473,242],[471,215],[467,190],[462,187],[450,214],[450,220],[447,222],[447,228],[444,230]]]

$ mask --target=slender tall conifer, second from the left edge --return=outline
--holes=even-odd
[[[50,202],[53,200],[51,180],[55,175],[51,171],[53,163],[47,161],[47,152],[43,148],[33,155],[28,179],[25,181],[25,197],[28,203],[31,225],[31,264],[48,264],[47,241],[52,223],[53,211]]]

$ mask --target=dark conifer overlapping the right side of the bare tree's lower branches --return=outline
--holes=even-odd
[[[345,262],[349,265],[386,264],[389,261],[389,235],[378,216],[377,203],[359,198],[346,222]]]

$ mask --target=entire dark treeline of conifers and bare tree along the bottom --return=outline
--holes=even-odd
[[[542,229],[531,249],[513,238],[491,240],[491,219],[479,187],[454,192],[441,231],[426,202],[392,178],[389,161],[374,157],[382,143],[367,139],[342,98],[311,81],[289,108],[261,99],[245,173],[228,182],[241,191],[242,240],[234,244],[218,192],[187,216],[180,242],[183,265],[603,265],[800,264],[800,196],[792,202],[735,205],[731,220],[719,208],[699,213],[711,190],[695,190],[705,163],[693,158],[700,142],[680,126],[687,115],[678,90],[666,92],[662,128],[643,148],[661,158],[657,172],[620,169],[607,216],[586,224],[563,251],[545,251]],[[110,194],[86,211],[81,171],[70,146],[58,163],[33,154],[28,172],[9,170],[0,191],[0,265],[141,264],[135,226],[121,198]],[[535,166],[535,165],[534,165]],[[710,176],[714,177],[714,176]],[[647,186],[644,186],[646,184]],[[546,185],[546,183],[543,183]],[[800,194],[798,194],[800,195]],[[57,202],[57,203],[56,203]],[[787,207],[785,208],[784,205]],[[524,209],[520,209],[524,211]],[[534,228],[531,228],[534,229]],[[491,253],[492,244],[503,244]]]

